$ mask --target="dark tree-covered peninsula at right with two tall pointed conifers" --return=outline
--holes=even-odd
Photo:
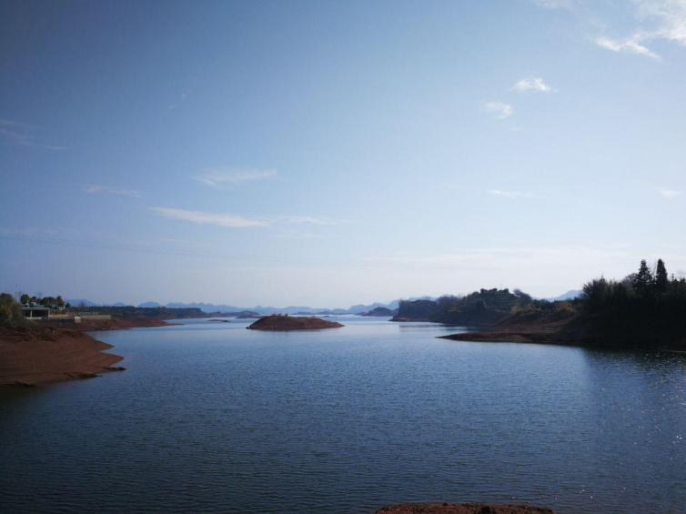
[[[483,298],[477,304],[467,301],[483,293],[456,301],[439,298],[429,317],[469,319],[482,328],[442,338],[686,350],[686,278],[670,277],[661,259],[654,271],[642,260],[637,273],[620,281],[591,280],[571,301],[532,300],[517,291],[509,294],[510,300],[517,297],[509,302],[509,310]],[[508,297],[502,292],[498,296]]]

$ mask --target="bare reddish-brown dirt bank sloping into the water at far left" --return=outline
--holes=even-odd
[[[68,328],[0,328],[0,386],[35,386],[110,371],[112,345]]]

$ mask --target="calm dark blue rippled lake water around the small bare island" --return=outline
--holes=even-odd
[[[125,372],[2,393],[0,510],[686,512],[686,354],[341,320],[98,333]]]

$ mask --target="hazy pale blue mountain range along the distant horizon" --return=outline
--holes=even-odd
[[[545,298],[549,301],[555,300],[570,300],[575,297],[580,296],[581,291],[570,290],[566,293],[560,295],[559,297]],[[409,300],[435,300],[436,297],[411,297],[407,298]],[[124,302],[116,302],[113,304],[100,304],[94,301],[88,300],[86,298],[68,298],[66,300],[71,305],[85,306],[85,307],[126,307],[130,304]],[[388,303],[374,302],[371,304],[358,304],[353,305],[348,308],[328,308],[328,307],[308,307],[308,306],[288,306],[288,307],[270,307],[270,306],[255,306],[255,307],[238,307],[227,304],[211,304],[204,302],[169,302],[162,304],[159,302],[148,301],[138,304],[135,307],[167,307],[167,308],[186,308],[186,307],[197,307],[204,312],[244,312],[252,311],[258,314],[329,314],[329,315],[341,315],[341,314],[362,314],[369,312],[370,310],[377,307],[388,308],[389,310],[395,310],[398,308],[400,300],[392,300]]]

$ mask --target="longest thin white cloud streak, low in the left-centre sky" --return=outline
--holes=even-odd
[[[327,217],[311,216],[277,216],[277,217],[244,217],[227,213],[211,213],[175,207],[150,207],[159,216],[179,219],[217,227],[249,228],[270,227],[275,225],[338,225],[338,220]]]

